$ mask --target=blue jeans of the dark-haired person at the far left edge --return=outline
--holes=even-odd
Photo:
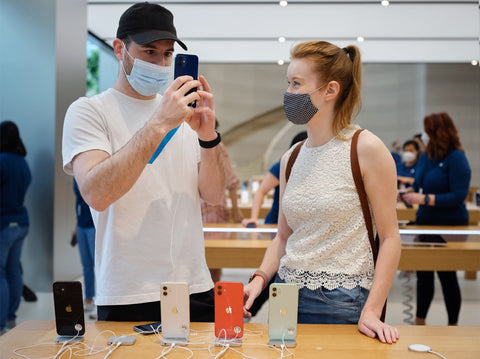
[[[23,290],[20,255],[27,233],[28,226],[17,224],[0,230],[0,330],[17,317]]]

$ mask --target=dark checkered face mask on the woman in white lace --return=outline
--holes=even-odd
[[[285,92],[283,94],[283,111],[288,120],[295,125],[305,125],[310,121],[318,111],[318,108],[313,104],[310,95],[325,87],[327,84],[328,82],[310,93],[298,94]]]

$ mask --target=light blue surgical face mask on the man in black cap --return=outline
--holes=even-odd
[[[170,84],[171,66],[158,66],[150,62],[142,61],[133,58],[133,56],[128,53],[126,47],[125,51],[128,56],[134,59],[134,62],[130,75],[127,75],[124,65],[122,68],[128,82],[135,91],[143,96],[153,96],[167,89]]]

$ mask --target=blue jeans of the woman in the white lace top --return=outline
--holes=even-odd
[[[275,281],[284,283],[278,276]],[[298,323],[357,324],[368,294],[369,290],[359,286],[334,290],[303,287],[298,293]]]

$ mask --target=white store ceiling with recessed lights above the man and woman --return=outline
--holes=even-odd
[[[358,45],[367,62],[479,59],[478,1],[150,1],[175,17],[179,37],[203,62],[288,61],[295,42]],[[89,0],[88,29],[111,44],[135,1]],[[285,41],[280,42],[279,37]],[[359,37],[364,41],[359,42]]]

